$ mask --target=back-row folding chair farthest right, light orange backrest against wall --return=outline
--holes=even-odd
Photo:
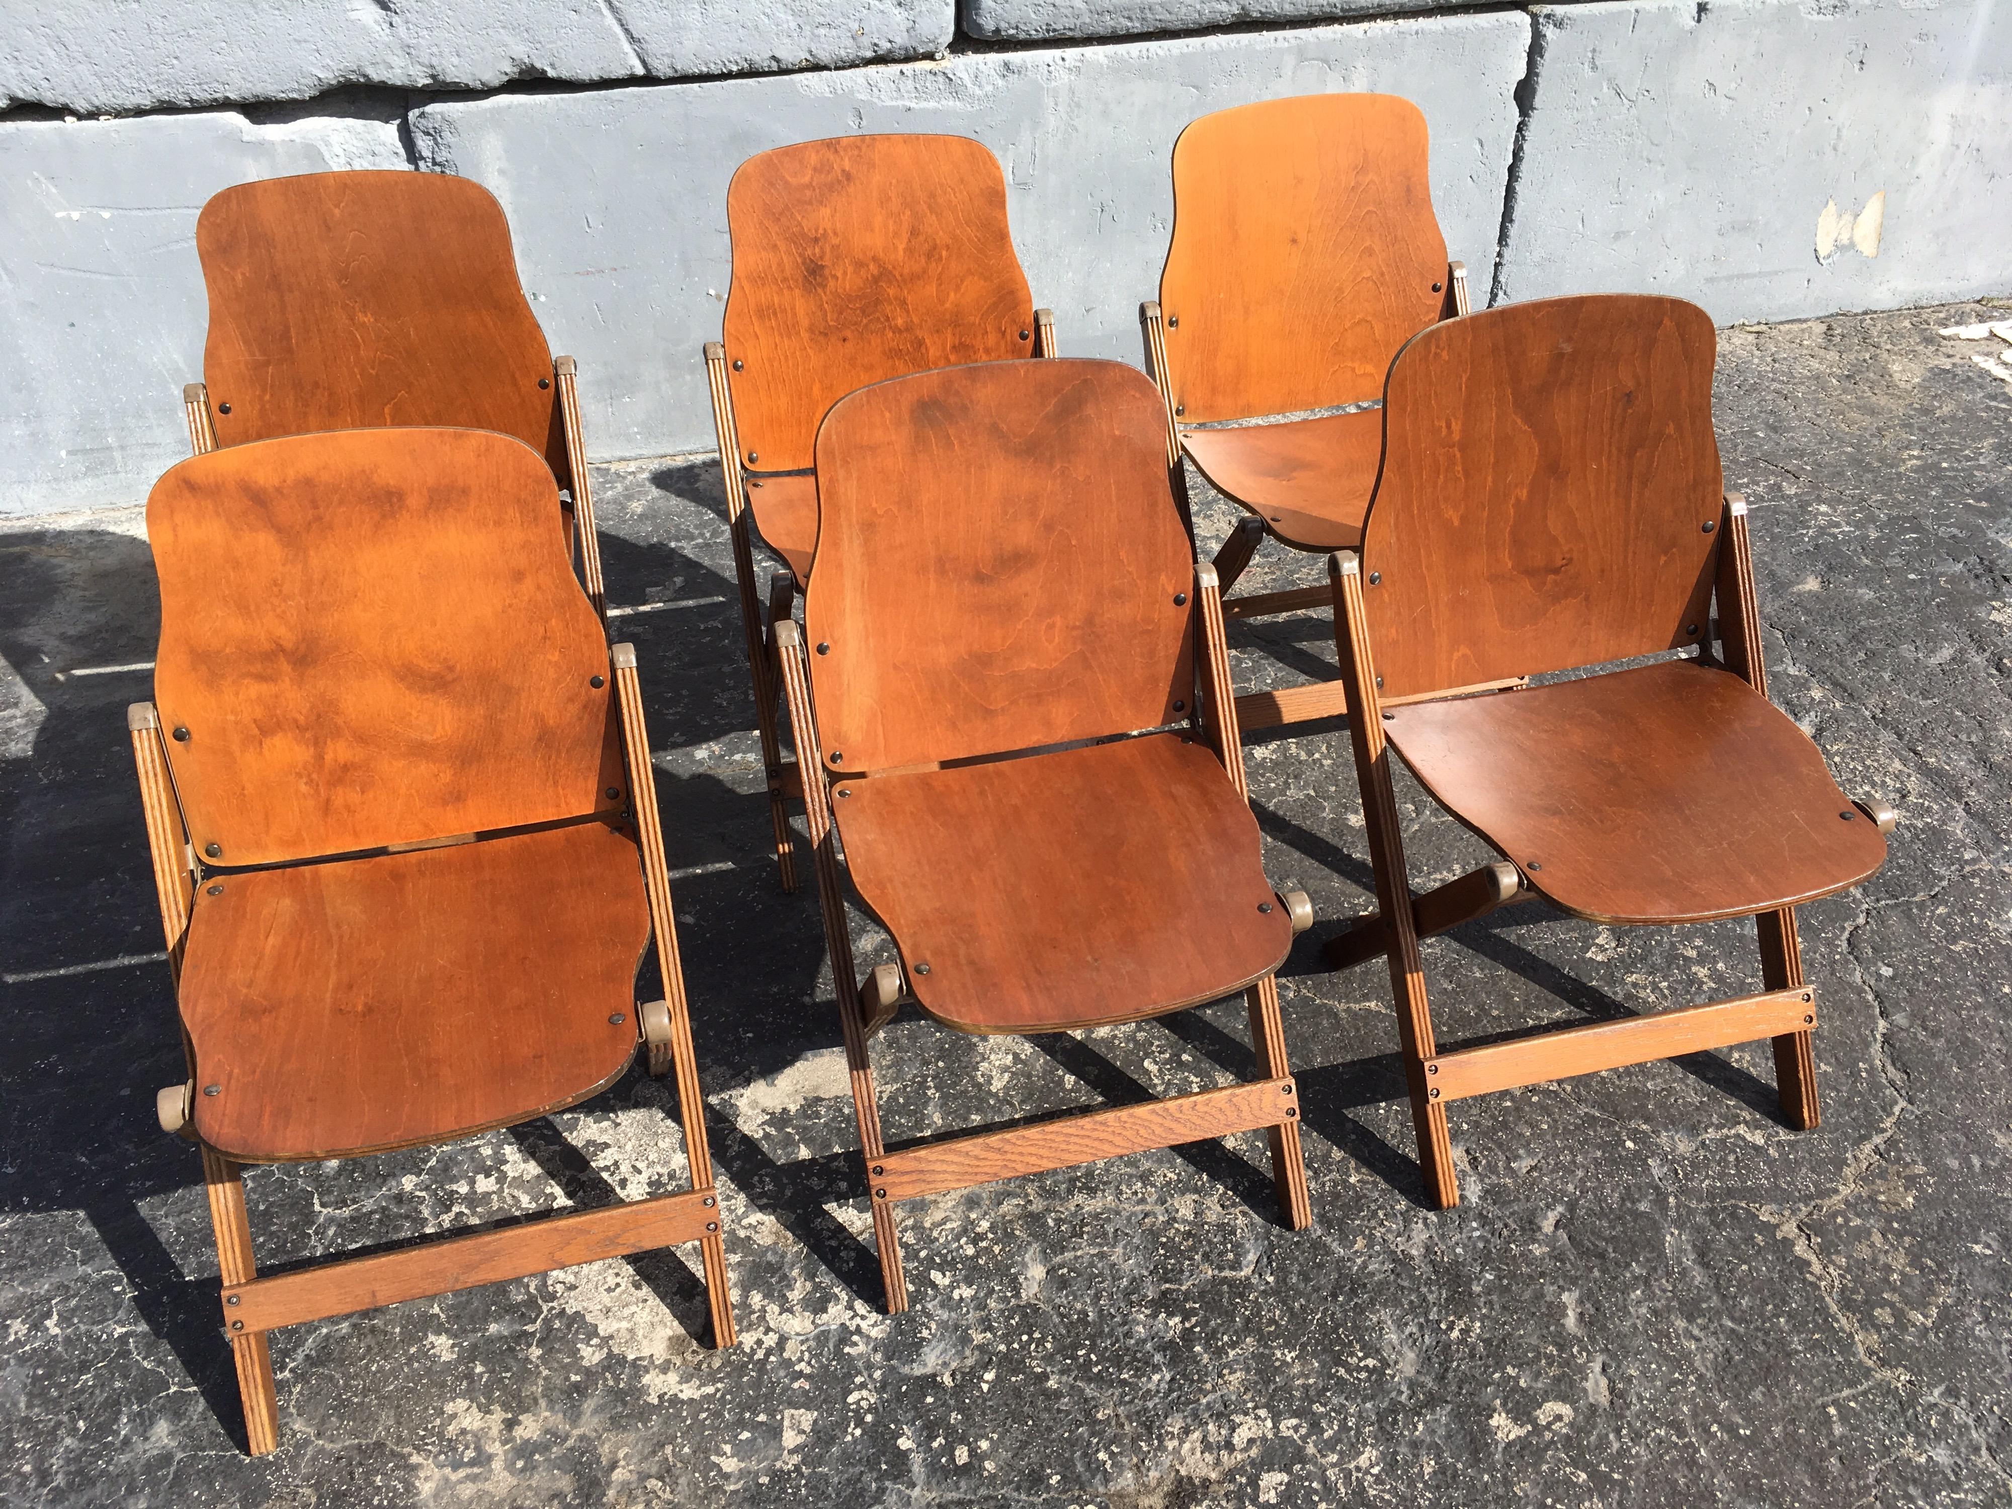
[[[1215,553],[1227,594],[1266,535],[1362,543],[1396,348],[1467,314],[1467,266],[1433,217],[1424,115],[1394,95],[1304,95],[1203,115],[1173,145],[1173,243],[1139,306],[1185,453],[1249,509]],[[1264,423],[1249,423],[1264,421]],[[1225,598],[1227,618],[1332,608],[1326,585]],[[1245,730],[1346,712],[1342,682],[1237,700]]]

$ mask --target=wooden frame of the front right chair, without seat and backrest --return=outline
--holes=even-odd
[[[1726,493],[1722,529],[1716,577],[1722,658],[1728,670],[1767,696],[1746,501],[1738,493]],[[1376,660],[1366,630],[1362,561],[1354,551],[1336,551],[1328,557],[1328,575],[1338,608],[1334,638],[1342,678],[1350,702],[1362,708],[1362,716],[1350,718],[1350,744],[1356,779],[1362,787],[1370,865],[1376,875],[1376,913],[1330,940],[1326,960],[1332,968],[1346,968],[1382,954],[1390,964],[1404,1084],[1410,1095],[1418,1165],[1431,1203],[1447,1209],[1461,1201],[1453,1169],[1453,1143],[1447,1131],[1447,1105],[1451,1101],[1591,1074],[1602,1068],[1771,1038],[1783,1117],[1799,1131],[1817,1127],[1821,1111],[1811,1046],[1817,1028],[1817,1000],[1815,990],[1803,978],[1793,907],[1763,911],[1754,917],[1760,978],[1767,986],[1763,994],[1616,1022],[1551,1028],[1479,1048],[1439,1050],[1418,940],[1521,899],[1527,877],[1503,861],[1485,865],[1424,895],[1410,889],[1396,793],[1390,781],[1390,748],[1380,716],[1386,704],[1378,698]],[[1433,700],[1461,694],[1435,692]],[[1875,803],[1859,803],[1859,809],[1877,823],[1881,833],[1893,829],[1891,809]]]

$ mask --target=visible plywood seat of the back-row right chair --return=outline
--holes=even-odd
[[[1360,408],[1280,425],[1183,431],[1201,475],[1294,549],[1354,549],[1382,459],[1382,414]],[[1245,606],[1245,614],[1249,614]]]

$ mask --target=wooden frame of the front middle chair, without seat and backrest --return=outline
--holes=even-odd
[[[1243,748],[1237,740],[1235,698],[1229,694],[1229,648],[1223,638],[1221,590],[1211,565],[1195,567],[1197,656],[1207,704],[1207,736],[1229,773],[1237,795],[1249,801],[1243,779]],[[775,630],[777,662],[789,702],[791,738],[797,748],[821,748],[811,704],[811,664],[803,632],[791,620]],[[801,769],[801,767],[799,767]],[[831,781],[819,771],[805,783],[811,847],[817,863],[817,893],[825,917],[825,946],[839,996],[839,1028],[851,1072],[853,1109],[859,1121],[859,1153],[865,1161],[867,1203],[873,1211],[873,1245],[879,1253],[887,1312],[907,1310],[907,1282],[901,1272],[901,1239],[895,1203],[946,1189],[1012,1179],[1022,1173],[1064,1169],[1125,1153],[1175,1147],[1235,1131],[1264,1129],[1272,1145],[1272,1177],[1286,1223],[1300,1231],[1312,1225],[1306,1193],[1306,1161],[1300,1145],[1300,1095],[1286,1062],[1286,1032],[1280,1022],[1278,980],[1268,974],[1245,990],[1251,1046],[1260,1078],[1197,1095],[1062,1115],[1026,1127],[994,1133],[954,1135],[889,1153],[881,1135],[871,1036],[899,1004],[895,966],[879,966],[859,982],[853,962],[851,928],[845,915],[845,885],[839,871],[837,833],[831,813]],[[847,779],[859,779],[855,773]],[[1296,924],[1300,907],[1288,901]]]

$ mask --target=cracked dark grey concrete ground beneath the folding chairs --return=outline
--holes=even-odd
[[[2012,386],[1954,306],[1728,330],[1775,698],[1901,811],[1803,913],[1825,1125],[1765,1044],[1463,1103],[1420,1205],[1346,734],[1249,750],[1316,1227],[1233,1137],[905,1211],[877,1312],[817,907],[783,895],[710,461],[600,477],[642,656],[742,1344],[664,1251],[282,1332],[278,1455],[239,1455],[121,720],[157,606],[137,513],[0,535],[0,1433],[10,1503],[2006,1505],[2012,1501]],[[139,483],[137,483],[139,485]],[[1203,499],[1203,543],[1231,513]],[[1262,557],[1276,583],[1318,561]],[[1332,660],[1239,630],[1239,680]],[[1414,881],[1479,843],[1408,787]],[[865,934],[861,934],[865,938]],[[1754,988],[1744,924],[1519,907],[1424,946],[1443,1042]],[[873,940],[861,964],[875,958]],[[121,964],[121,960],[139,960]],[[893,1139],[1249,1072],[1241,1006],[1068,1038],[877,1042]],[[668,1084],[431,1153],[249,1175],[262,1264],[666,1189]]]

